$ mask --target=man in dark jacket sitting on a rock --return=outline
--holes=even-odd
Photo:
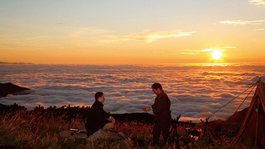
[[[115,119],[103,110],[104,94],[97,92],[95,94],[96,101],[91,106],[87,114],[85,124],[87,136],[94,134],[99,129],[106,129],[113,132]]]

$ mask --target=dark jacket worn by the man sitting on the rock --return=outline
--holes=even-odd
[[[94,102],[87,114],[85,124],[87,135],[94,134],[98,129],[103,128],[105,124],[110,123],[111,121],[106,119],[109,117],[110,114],[103,110],[103,104],[99,101]]]

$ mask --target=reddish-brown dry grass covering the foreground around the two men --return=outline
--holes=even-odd
[[[66,121],[66,118],[66,115],[58,117],[28,110],[6,113],[0,116],[0,148],[153,148],[152,124],[117,122],[115,132],[127,134],[133,143],[119,143],[110,138],[87,142],[78,138],[65,140],[59,136],[60,132],[70,128],[84,129],[84,122],[78,115],[70,122]],[[184,134],[185,127],[179,125],[178,133]],[[229,138],[221,137],[216,145],[209,148],[227,146]],[[176,145],[171,144],[166,148],[176,148]]]

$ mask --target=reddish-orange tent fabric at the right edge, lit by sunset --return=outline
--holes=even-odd
[[[259,113],[255,113],[254,105],[260,104]],[[232,145],[234,146],[240,138],[248,136],[256,137],[256,125],[258,115],[258,132],[257,140],[260,147],[265,147],[265,83],[258,81],[258,85],[255,94],[252,98],[248,111],[245,115],[244,121],[240,127],[237,137],[233,140]]]

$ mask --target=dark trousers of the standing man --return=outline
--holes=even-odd
[[[153,145],[158,145],[159,144],[159,138],[160,138],[160,133],[162,132],[163,138],[164,138],[164,143],[167,143],[168,138],[169,138],[169,128],[162,128],[161,126],[154,124],[153,128]]]

